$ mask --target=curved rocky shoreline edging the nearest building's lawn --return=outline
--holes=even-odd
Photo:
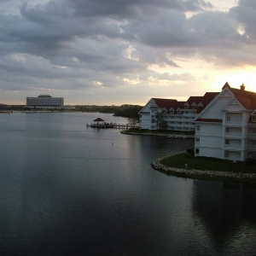
[[[185,153],[175,152],[166,157],[172,156],[174,154]],[[236,183],[255,183],[256,184],[256,174],[254,173],[241,173],[241,172],[219,172],[219,171],[202,171],[202,170],[188,170],[188,169],[178,169],[175,167],[167,167],[160,163],[160,160],[166,157],[161,157],[154,160],[150,165],[155,171],[166,173],[166,175],[176,176],[176,177],[188,177],[193,179],[204,179],[204,180],[219,180],[219,181],[230,181]]]

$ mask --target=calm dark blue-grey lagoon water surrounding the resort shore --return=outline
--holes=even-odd
[[[86,127],[102,113],[0,116],[1,255],[256,255],[256,189],[166,176],[192,140]]]

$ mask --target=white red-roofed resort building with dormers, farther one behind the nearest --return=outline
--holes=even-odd
[[[167,130],[195,131],[193,120],[217,95],[207,92],[204,96],[190,96],[187,102],[152,98],[139,112],[141,129],[157,130],[155,114],[162,113]]]

